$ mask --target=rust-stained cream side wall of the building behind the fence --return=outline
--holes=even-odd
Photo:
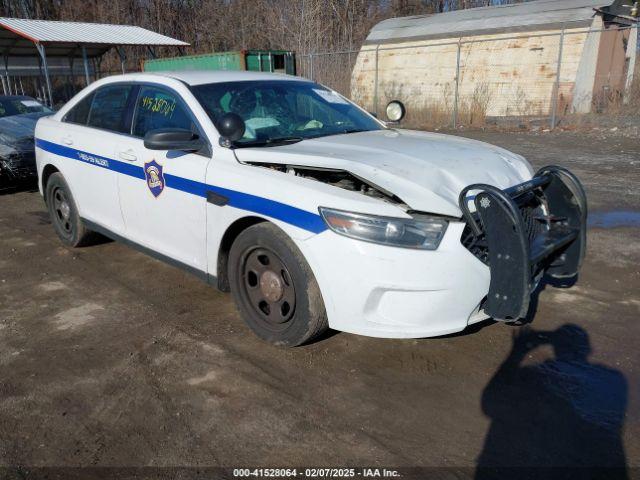
[[[377,77],[378,108],[399,99],[413,109],[451,111],[459,71],[459,105],[481,103],[487,116],[547,115],[556,84],[560,34],[545,30],[520,38],[465,37],[460,44],[447,39],[383,45],[377,52],[377,75],[376,47],[366,46],[353,69],[352,97],[375,110]],[[560,91],[569,103],[586,35],[584,29],[569,29],[563,38]]]

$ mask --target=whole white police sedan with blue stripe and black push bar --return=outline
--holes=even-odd
[[[576,277],[574,175],[387,112],[289,76],[114,76],[38,122],[40,189],[66,245],[95,231],[182,267],[280,345],[513,321],[541,277]]]

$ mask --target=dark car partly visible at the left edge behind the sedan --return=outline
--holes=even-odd
[[[0,96],[0,187],[36,177],[33,134],[53,110],[25,95]]]

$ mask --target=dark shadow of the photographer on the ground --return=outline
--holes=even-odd
[[[553,358],[528,364],[530,352],[543,345],[552,347]],[[526,326],[514,334],[511,352],[482,394],[491,426],[477,479],[628,478],[627,381],[590,363],[590,353],[589,336],[576,325]]]

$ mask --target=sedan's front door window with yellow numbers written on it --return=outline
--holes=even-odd
[[[158,128],[198,131],[176,94],[158,87],[142,87],[133,121],[133,134],[136,137],[144,137],[148,131]]]

